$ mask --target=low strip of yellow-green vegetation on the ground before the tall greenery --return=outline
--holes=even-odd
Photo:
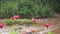
[[[5,19],[3,21],[6,25],[16,25],[16,24],[18,24],[18,25],[25,25],[25,24],[27,24],[27,25],[40,25],[40,24],[37,24],[35,22],[32,22],[29,19],[17,19],[17,20]]]

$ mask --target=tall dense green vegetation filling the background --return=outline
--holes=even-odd
[[[0,18],[55,17],[54,11],[59,6],[58,0],[0,0]]]

